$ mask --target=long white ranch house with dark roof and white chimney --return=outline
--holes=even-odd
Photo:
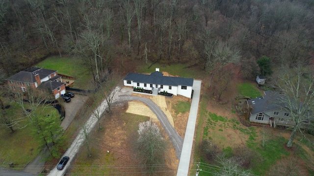
[[[124,86],[152,90],[153,95],[166,91],[174,95],[188,98],[192,96],[193,78],[163,76],[159,68],[151,74],[128,73],[123,79]]]

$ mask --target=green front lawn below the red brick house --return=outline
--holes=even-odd
[[[14,116],[15,119],[21,118],[23,110],[17,103],[11,102],[5,104],[11,105],[6,110],[8,115]],[[49,107],[43,111],[43,114],[50,113],[58,113],[58,111],[53,107]],[[4,167],[8,167],[10,163],[14,163],[16,165],[15,169],[22,170],[29,161],[37,157],[41,150],[37,142],[38,139],[33,138],[32,135],[34,127],[29,124],[26,117],[24,119],[26,121],[19,123],[19,126],[13,127],[15,129],[14,133],[8,128],[0,128],[0,138],[5,139],[0,140],[0,161]],[[22,128],[24,126],[26,127]],[[22,129],[19,129],[19,127]]]

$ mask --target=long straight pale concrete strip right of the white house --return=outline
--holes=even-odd
[[[183,148],[181,153],[181,158],[179,162],[177,176],[187,176],[188,170],[190,166],[191,152],[193,146],[193,138],[195,132],[196,118],[198,112],[198,104],[200,101],[200,93],[201,93],[201,80],[193,81],[193,99],[191,103],[190,114],[188,116],[186,131],[183,141]]]

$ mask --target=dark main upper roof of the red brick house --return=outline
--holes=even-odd
[[[51,75],[57,71],[46,69],[46,68],[38,68],[38,67],[30,67],[23,71],[16,73],[15,75],[7,78],[9,81],[18,81],[18,82],[26,82],[26,83],[35,83],[35,75],[39,74],[39,78],[43,79],[48,75]]]

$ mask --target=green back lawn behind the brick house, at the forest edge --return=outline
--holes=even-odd
[[[36,65],[37,67],[57,70],[58,73],[75,78],[74,88],[89,89],[90,72],[83,67],[82,61],[76,57],[53,56]]]

